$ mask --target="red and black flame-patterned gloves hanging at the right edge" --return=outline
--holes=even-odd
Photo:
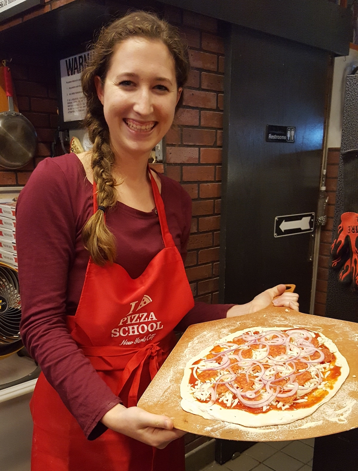
[[[344,212],[341,224],[331,247],[332,268],[339,269],[338,279],[342,283],[358,285],[358,214]]]

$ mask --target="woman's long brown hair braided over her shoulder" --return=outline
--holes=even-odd
[[[84,125],[93,144],[91,164],[93,179],[97,184],[97,204],[106,210],[113,208],[117,203],[116,185],[122,182],[117,182],[112,176],[115,156],[110,146],[108,125],[104,118],[103,106],[97,96],[94,78],[99,76],[104,84],[117,45],[133,36],[162,41],[167,46],[175,62],[177,87],[183,87],[189,74],[187,46],[178,30],[154,14],[144,11],[129,13],[100,32],[81,80],[87,102]],[[182,97],[176,109],[181,105],[181,101]],[[96,211],[86,222],[82,238],[97,265],[103,266],[107,260],[109,262],[116,260],[116,241],[106,225],[104,211]]]

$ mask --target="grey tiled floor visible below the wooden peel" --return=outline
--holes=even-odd
[[[315,439],[259,442],[234,460],[202,471],[312,471]]]

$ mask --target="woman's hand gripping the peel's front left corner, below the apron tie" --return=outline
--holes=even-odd
[[[173,428],[173,421],[167,415],[151,414],[140,407],[127,408],[122,404],[112,407],[101,422],[111,430],[159,449],[186,433]]]

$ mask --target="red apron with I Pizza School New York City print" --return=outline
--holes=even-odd
[[[88,262],[68,329],[111,390],[135,406],[175,345],[173,329],[194,306],[183,260],[171,236],[155,180],[151,185],[165,248],[141,276],[123,267]],[[95,188],[94,188],[95,190]],[[97,209],[93,198],[93,209]],[[31,401],[32,471],[183,471],[183,439],[163,450],[106,430],[85,438],[58,393],[40,375]]]

